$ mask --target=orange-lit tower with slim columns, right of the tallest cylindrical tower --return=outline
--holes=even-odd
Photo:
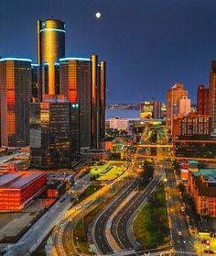
[[[105,134],[105,62],[97,56],[59,60],[59,94],[81,107],[81,148],[99,147]]]

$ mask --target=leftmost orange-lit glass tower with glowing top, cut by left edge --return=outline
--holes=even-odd
[[[1,145],[29,145],[31,60],[0,59]]]

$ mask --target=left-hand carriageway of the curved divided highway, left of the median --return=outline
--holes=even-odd
[[[134,180],[132,184],[127,185],[126,189],[124,189],[124,191],[118,197],[116,197],[109,206],[107,206],[103,210],[103,213],[101,213],[99,217],[95,219],[92,228],[93,242],[100,254],[113,253],[113,249],[105,236],[105,228],[107,221],[109,217],[112,216],[112,213],[114,212],[116,207],[121,204],[124,198],[126,198],[126,196],[129,195],[135,189],[136,186],[137,180]]]

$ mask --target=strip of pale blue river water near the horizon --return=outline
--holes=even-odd
[[[139,118],[139,110],[134,109],[106,109],[106,119],[113,117]]]

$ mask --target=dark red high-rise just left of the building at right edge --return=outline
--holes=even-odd
[[[197,113],[199,115],[210,114],[210,88],[205,88],[202,84],[198,85]]]

